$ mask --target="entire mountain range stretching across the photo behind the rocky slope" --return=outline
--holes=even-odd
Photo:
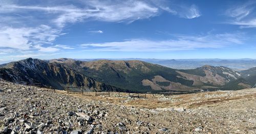
[[[179,70],[140,60],[28,58],[0,65],[0,77],[12,82],[42,83],[58,90],[69,86],[121,92],[240,90],[256,83],[256,68],[238,72],[203,65]]]

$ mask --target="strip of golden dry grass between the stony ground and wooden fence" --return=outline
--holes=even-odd
[[[118,93],[111,93],[111,97],[108,96],[95,96],[95,93],[82,94],[67,94],[66,91],[56,91],[60,94],[79,97],[82,99],[96,100],[110,102],[116,105],[134,106],[138,108],[168,108],[168,107],[184,107],[184,108],[197,108],[205,105],[215,105],[217,103],[224,103],[227,101],[240,100],[240,99],[254,99],[256,100],[256,90],[241,90],[229,92],[206,92],[198,94],[184,94],[184,95],[171,95],[163,97],[161,95],[147,94],[146,99],[129,99],[128,93],[121,93],[118,97]],[[243,94],[241,94],[243,93]],[[230,95],[229,95],[230,94]],[[137,95],[137,94],[134,94]],[[207,98],[205,96],[208,96]],[[167,98],[167,100],[159,100],[159,98]]]

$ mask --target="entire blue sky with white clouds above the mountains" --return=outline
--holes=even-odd
[[[256,58],[256,1],[1,0],[0,63]]]

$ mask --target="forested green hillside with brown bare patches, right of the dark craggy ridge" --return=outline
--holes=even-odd
[[[100,82],[133,91],[191,91],[200,88],[219,88],[241,77],[239,72],[224,66],[204,65],[193,70],[175,70],[139,60],[68,61],[62,64]]]

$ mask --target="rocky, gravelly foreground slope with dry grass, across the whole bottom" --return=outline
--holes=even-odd
[[[256,133],[256,89],[135,99],[2,80],[0,98],[0,133]]]

